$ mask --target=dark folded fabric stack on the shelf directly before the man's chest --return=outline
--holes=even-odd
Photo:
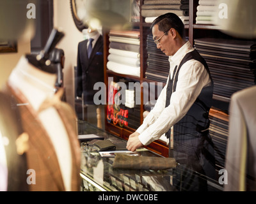
[[[157,49],[152,34],[147,36],[147,70],[145,78],[156,82],[166,83],[170,71],[170,62],[168,56]]]

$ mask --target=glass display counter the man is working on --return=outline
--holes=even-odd
[[[93,134],[104,137],[114,144],[125,140],[111,135],[84,121],[78,121],[79,135]],[[92,145],[93,141],[81,142],[82,191],[222,191],[218,180],[205,177],[196,171],[177,164],[168,170],[129,170],[113,168],[115,157],[101,157]],[[134,152],[136,156],[161,157],[148,149]],[[188,178],[186,175],[190,175]],[[192,175],[192,177],[191,177]]]

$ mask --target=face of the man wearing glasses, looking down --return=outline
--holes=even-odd
[[[173,36],[170,34],[170,30],[164,34],[163,31],[159,31],[158,25],[154,25],[152,28],[152,34],[154,40],[158,40],[162,36],[156,47],[160,49],[166,56],[172,56],[175,54],[175,51],[173,50]]]

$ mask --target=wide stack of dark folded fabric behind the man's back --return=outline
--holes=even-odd
[[[195,39],[214,81],[214,94],[230,99],[241,89],[255,85],[256,41]]]

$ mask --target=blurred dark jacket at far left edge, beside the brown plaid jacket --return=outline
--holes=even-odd
[[[13,108],[15,106],[16,104],[13,104],[13,99],[9,94],[0,92],[0,130],[2,136],[9,140],[8,144],[5,145],[6,167],[8,170],[8,175],[5,178],[7,179],[7,189],[5,190],[28,191],[26,154],[17,152],[16,146],[17,139],[24,131],[19,122],[19,112]],[[0,182],[2,185],[4,184],[3,180]]]

